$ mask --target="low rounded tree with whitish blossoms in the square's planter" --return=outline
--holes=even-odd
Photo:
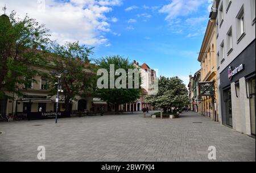
[[[147,103],[168,111],[172,107],[181,109],[188,105],[188,90],[178,77],[160,77],[159,91],[156,95],[147,97]]]

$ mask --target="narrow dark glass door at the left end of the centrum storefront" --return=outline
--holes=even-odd
[[[232,124],[232,100],[231,100],[231,89],[224,91],[224,102],[226,109],[226,125],[233,126]]]

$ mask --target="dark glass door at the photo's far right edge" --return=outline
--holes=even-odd
[[[251,134],[255,136],[255,77],[248,80],[250,98]]]

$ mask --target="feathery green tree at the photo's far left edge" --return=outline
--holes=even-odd
[[[22,95],[18,86],[31,85],[39,71],[36,66],[45,64],[44,53],[48,44],[48,29],[27,15],[24,19],[0,16],[0,99],[6,91]]]

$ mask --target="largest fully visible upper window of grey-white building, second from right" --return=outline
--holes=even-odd
[[[237,15],[237,43],[239,43],[243,36],[245,36],[245,17],[243,14],[243,6]]]

